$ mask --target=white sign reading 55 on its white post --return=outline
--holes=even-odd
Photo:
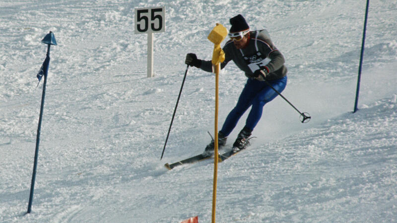
[[[147,33],[147,77],[153,76],[153,33],[164,31],[164,6],[135,8],[135,34]]]

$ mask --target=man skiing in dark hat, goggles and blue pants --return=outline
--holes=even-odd
[[[221,63],[221,69],[233,60],[245,72],[248,80],[236,106],[229,112],[222,129],[218,132],[218,148],[226,144],[227,136],[236,127],[240,117],[252,106],[244,128],[233,143],[233,150],[239,151],[248,145],[248,138],[261,119],[265,104],[278,95],[267,83],[278,92],[282,92],[287,84],[287,68],[284,66],[284,56],[273,45],[265,29],[250,31],[241,14],[231,18],[230,24],[230,40],[222,48],[225,60]],[[211,60],[198,59],[195,54],[187,54],[185,63],[212,72]],[[214,140],[205,148],[206,152],[213,150]]]

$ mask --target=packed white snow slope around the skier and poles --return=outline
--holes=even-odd
[[[134,34],[134,8],[165,6],[166,32]],[[397,222],[397,2],[371,0],[359,110],[352,113],[365,1],[0,0],[0,222],[210,222],[215,78],[190,67],[164,158],[187,53],[210,59],[216,23],[243,14],[286,58],[288,84],[252,146],[220,163],[217,222]],[[25,215],[52,31],[32,213]],[[222,43],[223,45],[224,43]],[[219,126],[246,81],[219,80]],[[230,146],[245,117],[229,136]]]

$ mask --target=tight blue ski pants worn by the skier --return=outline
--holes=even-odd
[[[287,85],[287,76],[278,79],[267,81],[278,92],[282,92]],[[258,124],[262,116],[263,107],[277,96],[277,92],[271,89],[265,81],[249,78],[240,94],[236,107],[227,115],[222,129],[220,130],[224,136],[228,136],[240,117],[252,106],[248,114],[245,127],[253,130]]]

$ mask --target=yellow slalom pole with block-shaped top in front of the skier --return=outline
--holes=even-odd
[[[214,139],[214,183],[212,192],[212,223],[215,223],[215,207],[216,207],[216,181],[218,173],[218,83],[220,63],[225,60],[225,53],[220,48],[220,43],[227,36],[227,29],[219,23],[216,23],[208,35],[208,40],[214,44],[212,53],[212,66],[215,72],[215,139]]]

